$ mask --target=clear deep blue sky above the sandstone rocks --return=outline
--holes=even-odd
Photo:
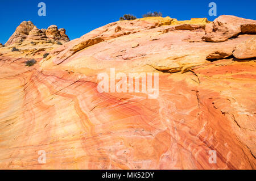
[[[38,16],[39,2],[46,3],[46,16]],[[31,20],[38,28],[56,24],[67,30],[71,40],[129,13],[141,18],[148,11],[161,11],[163,16],[178,20],[214,20],[216,16],[208,15],[210,2],[217,4],[217,16],[256,20],[255,0],[0,0],[0,43],[4,44],[24,20]]]

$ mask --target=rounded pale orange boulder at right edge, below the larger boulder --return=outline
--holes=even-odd
[[[234,49],[234,57],[238,59],[255,58],[256,57],[256,36],[237,45]]]

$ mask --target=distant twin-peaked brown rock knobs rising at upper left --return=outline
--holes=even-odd
[[[22,22],[15,30],[10,39],[5,45],[12,45],[15,43],[22,43],[23,41],[31,40],[46,40],[52,42],[66,43],[69,41],[68,36],[65,34],[65,29],[61,28],[60,31],[56,25],[49,26],[48,29],[39,30],[31,22]]]

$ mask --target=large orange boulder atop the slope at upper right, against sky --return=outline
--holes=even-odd
[[[204,41],[222,42],[239,33],[256,34],[256,20],[238,18],[236,16],[222,15],[205,27]]]

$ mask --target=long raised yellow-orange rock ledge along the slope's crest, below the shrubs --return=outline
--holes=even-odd
[[[200,24],[201,22],[201,24]],[[108,41],[117,37],[134,34],[141,31],[151,30],[152,28],[162,27],[159,30],[163,32],[173,30],[198,30],[203,31],[205,24],[209,23],[206,18],[199,18],[199,20],[191,19],[184,21],[186,24],[179,23],[176,19],[170,17],[147,17],[136,20],[123,20],[119,22],[109,23],[106,26],[97,28],[86,35],[69,42],[65,47],[57,49],[54,62],[62,62],[68,57],[78,52],[81,49],[90,47],[94,44]],[[60,52],[60,53],[59,53]],[[126,58],[125,58],[126,59]]]

